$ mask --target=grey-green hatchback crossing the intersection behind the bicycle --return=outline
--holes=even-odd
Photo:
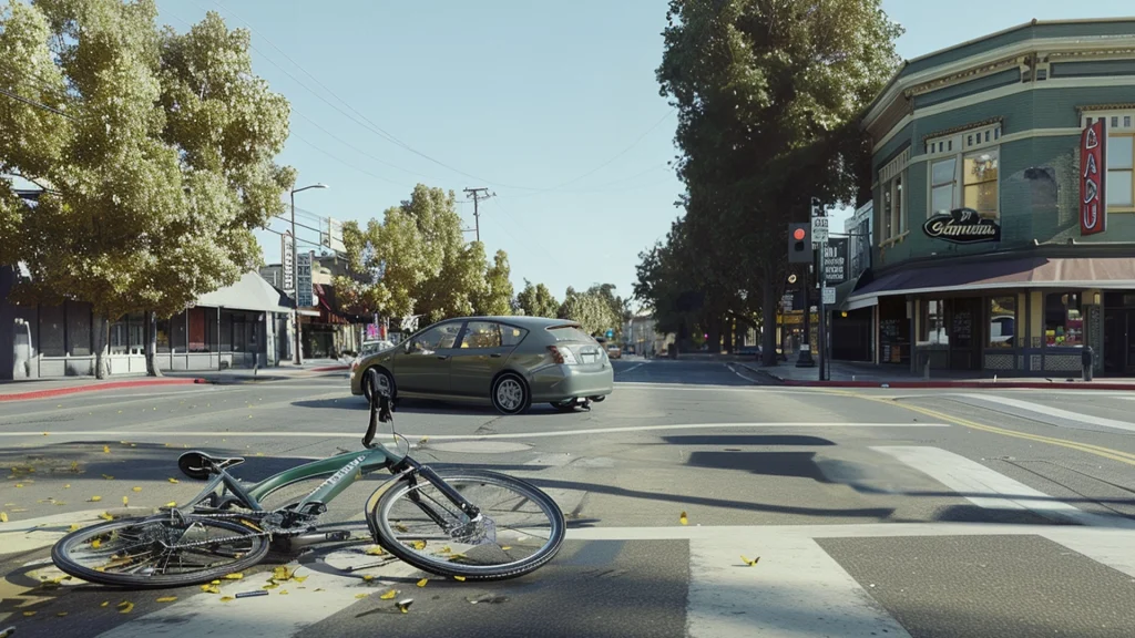
[[[533,402],[562,411],[614,389],[604,349],[573,321],[540,317],[448,319],[351,367],[351,394],[370,397],[367,370],[392,398],[491,403],[519,414]]]

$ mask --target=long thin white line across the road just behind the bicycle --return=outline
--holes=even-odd
[[[796,421],[770,421],[749,423],[673,423],[658,426],[627,426],[617,428],[588,428],[578,430],[556,430],[536,433],[508,433],[508,434],[485,434],[485,435],[434,435],[434,434],[398,434],[406,438],[429,437],[430,440],[486,440],[495,438],[547,438],[558,436],[578,436],[587,434],[619,434],[651,430],[706,430],[706,429],[738,429],[738,428],[949,428],[949,423],[832,423],[832,422],[796,422]],[[99,438],[99,437],[131,437],[132,442],[142,442],[148,438],[177,438],[177,437],[217,437],[226,438],[359,438],[360,433],[288,433],[288,431],[144,431],[144,430],[35,430],[35,431],[0,431],[0,437],[59,437],[59,438]]]

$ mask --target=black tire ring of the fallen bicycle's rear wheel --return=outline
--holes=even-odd
[[[186,515],[185,520],[188,522],[196,522],[205,526],[218,527],[225,529],[226,531],[249,536],[250,538],[253,539],[253,548],[246,552],[239,559],[235,560],[232,563],[227,563],[224,566],[210,568],[199,572],[173,574],[173,576],[108,573],[104,571],[98,571],[87,568],[83,564],[79,564],[74,559],[72,559],[72,551],[78,547],[82,543],[89,542],[93,537],[110,532],[115,529],[118,528],[125,529],[146,522],[149,523],[173,522],[168,515],[158,515],[158,517],[119,519],[85,527],[83,529],[73,531],[67,536],[60,538],[51,547],[51,561],[56,564],[57,568],[59,568],[64,572],[89,582],[98,582],[100,585],[109,585],[112,587],[127,587],[131,589],[163,589],[170,587],[184,587],[186,585],[200,585],[204,582],[210,582],[226,574],[243,571],[260,563],[260,561],[262,561],[264,555],[268,553],[268,547],[269,547],[268,538],[263,536],[255,536],[255,532],[253,532],[251,529],[242,524],[237,524],[235,522],[229,522],[220,519],[195,518],[192,514]]]

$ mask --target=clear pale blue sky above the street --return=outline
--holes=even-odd
[[[1135,14],[1121,0],[997,0],[980,14],[922,0],[883,5],[907,30],[905,58],[1032,18]],[[459,195],[488,187],[497,195],[481,204],[488,252],[507,251],[518,289],[528,278],[557,297],[602,282],[630,295],[639,251],[679,213],[681,185],[666,167],[675,120],[654,77],[665,0],[159,6],[177,31],[209,9],[229,26],[251,26],[257,73],[293,107],[280,161],[300,170],[301,184],[331,186],[301,193],[299,208],[365,220],[418,182]],[[472,227],[472,204],[461,211]],[[260,237],[266,260],[278,262],[278,237]]]

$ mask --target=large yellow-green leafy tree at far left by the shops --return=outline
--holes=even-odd
[[[39,0],[0,16],[0,78],[25,77],[16,92],[56,127],[3,98],[0,129],[44,133],[0,142],[0,169],[44,188],[34,215],[0,198],[19,237],[3,261],[31,272],[18,300],[92,304],[100,378],[110,321],[152,324],[235,283],[294,182],[274,161],[289,107],[252,73],[247,32],[210,12],[177,35],[157,15],[152,0]],[[157,373],[152,339],[148,354]]]

